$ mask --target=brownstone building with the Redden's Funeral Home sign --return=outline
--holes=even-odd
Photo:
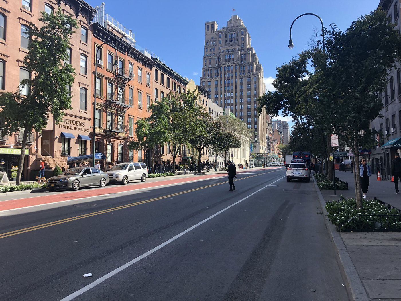
[[[70,37],[70,58],[66,62],[72,64],[77,73],[71,87],[73,109],[65,113],[60,124],[55,124],[50,118],[41,133],[30,134],[23,179],[36,175],[34,171],[30,175],[30,171],[38,167],[38,159],[45,159],[47,168],[53,169],[56,165],[65,167],[68,155],[79,155],[81,149],[87,147],[91,125],[91,109],[87,100],[92,87],[90,24],[95,10],[83,0],[0,1],[0,91],[7,92],[16,91],[20,81],[30,76],[23,65],[30,41],[27,29],[32,24],[41,27],[38,21],[40,12],[53,13],[59,6],[64,14],[77,18],[79,26]],[[7,136],[0,129],[0,171],[5,171],[8,177],[19,165],[20,132]]]

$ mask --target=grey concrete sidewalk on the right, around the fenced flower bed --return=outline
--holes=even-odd
[[[354,174],[336,171],[336,177],[348,182],[349,190],[338,190],[336,195],[332,190],[322,190],[324,200],[337,200],[341,194],[355,197]],[[401,195],[394,191],[393,182],[376,181],[376,175],[372,175],[367,197],[377,197],[401,208]],[[348,266],[341,262],[344,270],[356,269],[369,300],[401,300],[401,232],[354,232],[340,236],[352,261]]]

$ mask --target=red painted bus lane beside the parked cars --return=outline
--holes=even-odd
[[[239,171],[237,173],[245,173],[249,172],[250,170]],[[259,170],[260,171],[260,170]],[[191,181],[203,180],[203,179],[210,179],[214,177],[222,177],[226,176],[225,173],[220,174],[213,174],[213,175],[202,175],[196,177],[188,177],[183,179],[171,179],[171,180],[163,180],[157,182],[145,182],[145,183],[138,183],[136,185],[118,185],[118,186],[106,186],[105,188],[101,189],[86,189],[80,191],[69,191],[65,193],[59,194],[49,194],[45,196],[36,196],[36,197],[26,197],[20,199],[11,199],[8,201],[0,201],[0,212],[5,210],[11,209],[19,209],[25,208],[30,206],[37,206],[37,205],[45,205],[49,203],[57,203],[61,201],[70,201],[76,199],[84,199],[90,197],[97,197],[101,195],[108,195],[112,193],[123,193],[127,191],[134,191],[138,189],[144,188],[152,188],[157,186],[164,186],[164,185],[172,185],[172,184],[179,184],[179,183],[187,183]]]

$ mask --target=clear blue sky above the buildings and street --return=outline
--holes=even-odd
[[[98,0],[86,1],[93,7],[101,5]],[[346,30],[353,20],[379,4],[379,0],[103,1],[105,12],[132,29],[138,45],[150,49],[170,68],[197,84],[202,71],[205,22],[216,21],[222,28],[231,14],[237,14],[248,28],[251,46],[263,66],[266,89],[270,90],[276,67],[308,49],[313,28],[321,26],[314,16],[299,18],[292,28],[295,47],[290,50],[290,26],[297,16],[311,12],[322,18],[325,27],[334,23]],[[289,116],[278,118],[293,125]]]

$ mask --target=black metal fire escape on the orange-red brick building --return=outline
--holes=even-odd
[[[127,69],[117,68],[114,73],[115,85],[111,89],[111,93],[106,94],[106,129],[107,142],[111,142],[111,138],[119,133],[125,133],[124,115],[128,108],[132,108],[133,99],[129,99],[124,95],[124,88],[128,81],[134,78],[134,74]],[[110,112],[111,110],[113,112]]]

